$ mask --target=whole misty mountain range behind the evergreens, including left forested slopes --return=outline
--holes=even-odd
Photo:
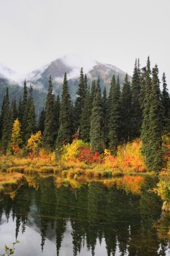
[[[109,91],[112,75],[115,75],[116,78],[119,75],[120,84],[124,82],[126,73],[114,65],[100,63],[99,61],[88,59],[87,57],[82,58],[74,55],[60,57],[26,75],[28,86],[30,86],[30,84],[34,86],[34,99],[37,114],[39,114],[42,107],[44,107],[50,75],[52,75],[54,93],[61,95],[62,81],[65,72],[67,72],[71,97],[73,101],[75,100],[81,67],[83,67],[84,74],[87,74],[89,85],[91,85],[93,79],[99,77],[101,90],[106,86]],[[10,98],[19,100],[19,97],[22,96],[25,77],[23,77],[22,80],[20,78],[17,79],[18,77],[19,76],[8,67],[0,65],[0,107],[7,86],[9,87]],[[14,79],[17,80],[17,82],[14,82]]]

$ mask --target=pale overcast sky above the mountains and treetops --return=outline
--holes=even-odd
[[[0,0],[0,62],[28,73],[70,53],[132,75],[147,56],[170,84],[169,0]]]

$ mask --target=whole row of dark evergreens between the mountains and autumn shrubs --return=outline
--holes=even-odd
[[[165,73],[163,90],[160,90],[159,69],[151,69],[148,57],[146,67],[140,68],[135,61],[132,81],[126,73],[120,86],[119,76],[113,75],[110,92],[101,92],[100,80],[89,84],[81,68],[75,103],[71,101],[67,73],[65,73],[62,96],[52,91],[52,77],[48,82],[46,106],[36,120],[33,88],[24,82],[24,92],[19,102],[9,102],[8,88],[3,98],[0,117],[1,149],[10,148],[13,122],[21,124],[22,146],[36,131],[42,132],[46,150],[61,148],[73,139],[91,143],[93,152],[102,153],[110,148],[116,155],[119,145],[138,137],[142,139],[142,154],[146,156],[148,170],[160,170],[162,166],[162,135],[170,131],[170,98]]]

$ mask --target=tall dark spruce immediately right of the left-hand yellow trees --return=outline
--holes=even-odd
[[[44,134],[42,137],[44,148],[52,149],[54,148],[54,143],[56,139],[56,117],[54,108],[54,94],[52,94],[52,78],[48,81],[48,94],[46,96],[46,119],[44,123]]]

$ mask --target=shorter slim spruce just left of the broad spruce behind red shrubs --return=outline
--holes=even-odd
[[[92,109],[92,102],[91,102],[91,94],[89,90],[87,90],[86,96],[85,96],[85,103],[81,115],[81,131],[80,131],[80,137],[85,142],[90,141],[90,119],[91,119],[91,109]]]

